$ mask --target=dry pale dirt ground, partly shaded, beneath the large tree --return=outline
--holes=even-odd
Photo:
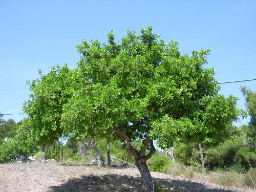
[[[164,191],[252,191],[203,184],[152,172]],[[0,164],[0,191],[146,191],[136,168],[102,168],[57,163]]]

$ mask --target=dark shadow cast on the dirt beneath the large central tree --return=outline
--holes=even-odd
[[[154,178],[163,191],[209,191],[209,192],[231,192],[232,190],[209,188],[209,186],[185,180],[168,180]],[[104,176],[83,176],[78,179],[69,180],[59,186],[51,186],[48,192],[64,191],[146,191],[140,177],[120,176],[109,174]]]

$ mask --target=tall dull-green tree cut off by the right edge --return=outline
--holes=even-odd
[[[241,87],[241,91],[245,96],[246,108],[250,115],[249,126],[246,128],[246,135],[249,139],[249,143],[255,148],[256,147],[256,92]]]

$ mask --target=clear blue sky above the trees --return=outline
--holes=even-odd
[[[208,67],[219,82],[256,78],[256,1],[5,1],[0,0],[0,112],[21,113],[29,98],[26,80],[51,66],[76,67],[75,46],[83,39],[116,39],[125,29],[154,26],[180,50],[211,48]],[[256,91],[256,81],[223,84],[220,93],[239,97],[240,86]],[[24,115],[4,116],[19,121]],[[248,120],[243,120],[246,123]]]

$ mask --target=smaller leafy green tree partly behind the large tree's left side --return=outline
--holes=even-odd
[[[46,75],[42,75],[39,70],[40,78],[28,81],[32,93],[24,103],[23,110],[29,117],[31,137],[42,145],[43,161],[46,144],[53,144],[62,135],[62,106],[79,84],[74,74],[76,71],[69,69],[67,65],[56,66]]]

